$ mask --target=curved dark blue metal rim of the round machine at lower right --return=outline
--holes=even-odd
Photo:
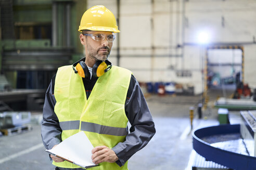
[[[222,150],[211,146],[202,138],[212,135],[223,135],[239,133],[240,125],[219,125],[204,127],[193,132],[193,148],[202,157],[209,161],[224,165],[236,170],[252,170],[256,169],[256,158],[244,154],[238,154],[227,150]]]

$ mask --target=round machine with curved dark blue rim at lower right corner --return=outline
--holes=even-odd
[[[241,124],[224,124],[195,130],[193,132],[194,150],[204,157],[204,161],[225,166],[220,169],[255,169],[255,116],[255,110],[242,111]],[[203,168],[213,169],[209,167],[209,163],[207,166]],[[194,169],[201,168],[193,167]]]

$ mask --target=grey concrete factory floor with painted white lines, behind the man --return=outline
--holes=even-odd
[[[210,103],[203,119],[198,119],[195,108],[194,129],[199,126],[215,125],[217,111],[211,108],[221,91],[210,92]],[[193,149],[190,131],[189,108],[197,106],[201,96],[150,95],[148,106],[156,124],[156,135],[142,150],[129,160],[129,169],[191,169],[189,155]],[[209,111],[210,110],[210,111]],[[34,115],[33,117],[38,117]],[[0,137],[0,169],[45,170],[54,169],[41,141],[40,125],[32,123],[33,130]]]

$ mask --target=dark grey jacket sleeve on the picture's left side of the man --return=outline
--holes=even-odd
[[[54,112],[54,106],[56,100],[54,97],[54,82],[55,77],[49,84],[49,87],[45,94],[45,103],[43,108],[43,122],[41,129],[41,136],[43,144],[46,149],[52,149],[54,145],[58,145],[61,142],[61,128],[59,126],[59,120]]]

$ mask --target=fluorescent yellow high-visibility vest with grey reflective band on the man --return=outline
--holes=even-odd
[[[125,68],[112,66],[98,78],[87,100],[82,77],[74,73],[72,66],[58,68],[54,87],[54,111],[62,129],[62,141],[84,131],[94,147],[113,148],[123,142],[128,134],[124,105],[131,75]],[[53,161],[53,164],[64,168],[79,168],[67,161]],[[89,169],[128,168],[127,162],[122,167],[116,163],[103,162]]]

